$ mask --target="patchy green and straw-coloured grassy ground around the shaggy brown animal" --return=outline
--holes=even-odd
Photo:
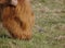
[[[65,48],[65,0],[32,0],[36,23],[31,40],[0,37],[0,48]],[[0,25],[0,35],[6,32]]]

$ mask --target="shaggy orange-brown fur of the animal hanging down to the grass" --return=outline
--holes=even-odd
[[[17,0],[17,5],[6,7],[2,12],[2,23],[14,38],[30,39],[34,13],[27,0]]]

